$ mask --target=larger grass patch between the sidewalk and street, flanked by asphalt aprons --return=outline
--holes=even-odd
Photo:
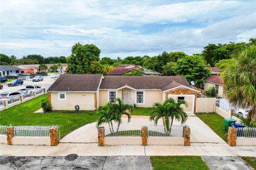
[[[200,156],[151,156],[153,170],[209,169]]]

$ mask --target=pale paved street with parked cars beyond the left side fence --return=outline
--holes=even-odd
[[[30,79],[30,80],[23,80],[24,83],[23,83],[22,86],[8,87],[7,83],[3,84],[3,89],[0,90],[0,93],[6,92],[6,91],[17,91],[17,90],[26,88],[26,86],[28,86],[28,85],[38,85],[41,88],[48,89],[52,85],[52,83],[57,79],[57,78],[50,78],[50,75],[49,76],[44,76],[43,78],[44,78],[44,80],[43,81],[39,81],[39,82],[33,82],[32,79]]]

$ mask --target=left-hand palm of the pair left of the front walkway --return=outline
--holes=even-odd
[[[103,123],[107,123],[109,126],[110,133],[114,134],[113,123],[112,123],[112,121],[114,121],[113,104],[107,103],[105,106],[99,108],[99,110],[97,111],[97,114],[100,116],[100,118],[96,124],[96,127],[99,128],[99,126],[102,125]]]

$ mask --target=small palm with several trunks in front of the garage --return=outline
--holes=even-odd
[[[173,98],[166,99],[163,104],[154,103],[149,120],[154,121],[154,124],[157,125],[158,120],[162,118],[165,133],[170,135],[174,118],[178,122],[181,121],[182,124],[187,121],[188,115],[181,107],[182,104],[186,107],[188,106],[186,101],[175,102]]]

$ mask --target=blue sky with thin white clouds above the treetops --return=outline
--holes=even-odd
[[[256,38],[252,1],[0,0],[1,53],[69,56],[75,43],[101,57],[200,53]]]

